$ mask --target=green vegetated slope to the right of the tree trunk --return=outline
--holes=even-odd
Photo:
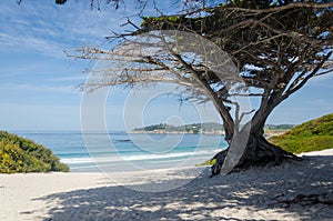
[[[269,140],[293,153],[331,149],[333,148],[333,113],[304,122]]]

